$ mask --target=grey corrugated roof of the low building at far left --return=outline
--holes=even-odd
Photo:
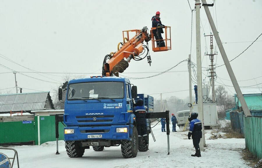
[[[0,112],[44,110],[49,92],[0,94]]]

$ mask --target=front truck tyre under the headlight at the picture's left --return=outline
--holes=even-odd
[[[65,141],[65,149],[70,158],[82,157],[85,152],[79,141]]]

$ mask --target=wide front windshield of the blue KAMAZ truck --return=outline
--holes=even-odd
[[[68,86],[68,100],[123,98],[123,82],[72,83]]]

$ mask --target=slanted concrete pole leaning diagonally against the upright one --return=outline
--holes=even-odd
[[[238,85],[238,81],[236,80],[236,76],[235,76],[235,74],[234,74],[234,72],[232,70],[232,67],[231,67],[231,65],[229,63],[229,60],[228,60],[227,56],[226,56],[226,52],[224,50],[224,47],[223,47],[222,42],[220,40],[220,37],[219,37],[219,35],[217,33],[216,26],[214,24],[214,21],[212,19],[212,16],[210,14],[209,9],[208,9],[208,5],[209,4],[206,3],[206,0],[202,0],[202,2],[203,2],[203,6],[205,8],[205,11],[206,11],[206,15],[208,17],[208,21],[209,21],[210,27],[211,27],[211,29],[213,31],[214,36],[215,36],[215,39],[216,39],[216,42],[217,42],[217,46],[219,48],[219,51],[220,51],[221,56],[223,58],[224,64],[226,66],[226,70],[227,70],[227,72],[229,74],[229,77],[230,77],[230,79],[232,81],[232,84],[234,86],[234,89],[236,91],[238,99],[239,99],[239,101],[241,103],[242,109],[243,109],[243,111],[245,113],[245,116],[251,116],[251,113],[250,113],[250,111],[249,111],[249,109],[247,107],[247,103],[246,103],[246,101],[244,99],[244,96],[243,96],[243,94],[242,94],[242,92],[240,90],[240,87]]]

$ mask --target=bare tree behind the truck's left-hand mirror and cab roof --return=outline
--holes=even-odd
[[[80,76],[73,76],[72,74],[65,74],[62,78],[61,78],[61,84],[60,85],[63,85],[63,83],[65,83],[66,81],[70,81],[74,78],[84,78],[85,76],[84,75],[80,75]],[[65,102],[65,96],[66,96],[66,92],[63,92],[63,100],[60,102],[58,100],[58,88],[60,85],[57,85],[56,87],[53,87],[52,88],[52,91],[55,93],[54,94],[54,98],[53,98],[53,104],[54,104],[54,108],[55,109],[64,109],[64,103],[62,102]]]

